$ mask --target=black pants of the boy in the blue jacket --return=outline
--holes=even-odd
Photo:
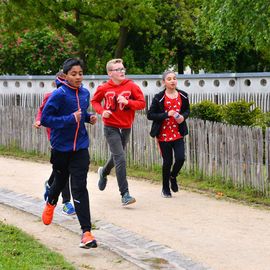
[[[48,202],[56,204],[61,190],[65,187],[69,175],[71,192],[76,214],[83,232],[91,230],[89,196],[87,190],[87,173],[90,164],[88,149],[76,152],[51,151],[51,163],[55,179],[50,188]]]

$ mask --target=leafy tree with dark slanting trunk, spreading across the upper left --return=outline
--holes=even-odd
[[[131,28],[145,31],[155,25],[155,9],[150,0],[9,0],[3,1],[1,8],[4,21],[12,31],[48,25],[71,34],[78,45],[78,56],[88,63],[90,72],[97,69],[94,63],[99,65],[108,58],[123,56]],[[17,17],[10,16],[11,10],[19,14],[21,23]]]

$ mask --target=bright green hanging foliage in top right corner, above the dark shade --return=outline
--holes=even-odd
[[[261,50],[270,44],[270,3],[264,0],[203,1],[200,23],[216,47],[235,42]]]

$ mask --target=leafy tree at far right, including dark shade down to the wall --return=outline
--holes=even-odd
[[[265,71],[270,67],[270,2],[202,0],[197,43],[208,71]]]

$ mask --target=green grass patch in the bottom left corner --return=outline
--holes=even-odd
[[[50,251],[18,228],[0,222],[0,269],[75,270],[63,256]]]

